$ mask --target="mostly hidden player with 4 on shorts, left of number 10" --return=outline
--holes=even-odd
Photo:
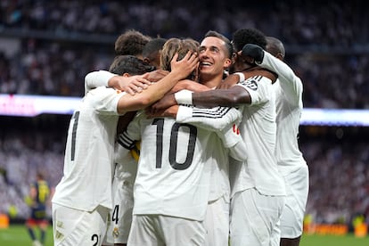
[[[130,77],[154,69],[154,67],[145,64],[145,62],[133,55],[118,55],[111,63],[109,71],[113,74]],[[91,81],[86,82],[91,84]],[[119,127],[122,127],[123,123],[127,124],[125,121],[129,122],[134,115],[135,111],[132,111],[132,114],[129,112],[120,117]],[[119,148],[119,145],[116,145],[114,152],[114,178],[112,182],[113,209],[108,217],[108,228],[105,235],[106,242],[103,242],[103,245],[125,245],[132,222],[133,184],[137,162],[130,154],[122,155],[119,152],[121,147]]]

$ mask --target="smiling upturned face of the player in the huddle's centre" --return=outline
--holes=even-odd
[[[223,74],[231,60],[227,58],[225,42],[218,37],[205,37],[199,51],[200,75]]]

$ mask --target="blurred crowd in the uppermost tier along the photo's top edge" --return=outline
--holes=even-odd
[[[357,45],[368,41],[365,1],[245,2],[3,0],[4,27],[54,33],[116,35],[130,27],[166,37],[201,38],[208,29],[229,36],[235,29],[258,27],[287,44]]]

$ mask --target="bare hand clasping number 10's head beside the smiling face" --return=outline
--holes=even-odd
[[[193,70],[197,70],[199,66],[199,58],[197,53],[189,51],[185,54],[184,58],[180,61],[178,59],[178,53],[173,56],[172,61],[170,61],[170,68],[172,72],[176,72],[180,75],[180,78],[187,78]]]

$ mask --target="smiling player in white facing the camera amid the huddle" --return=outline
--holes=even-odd
[[[200,84],[194,81],[185,81],[185,83],[181,81],[174,87],[174,90],[180,87],[199,92],[216,88],[222,82],[225,70],[232,64],[232,55],[233,46],[230,40],[220,33],[210,30],[201,40],[199,48]],[[174,117],[176,116],[174,115]],[[234,128],[234,131],[237,132],[237,130],[238,128]],[[206,150],[209,154],[209,160],[212,160],[209,204],[205,219],[206,245],[223,246],[228,244],[229,239],[229,149],[225,148],[218,135],[214,133],[212,135],[214,137]],[[244,152],[242,152],[242,156],[245,158]]]

